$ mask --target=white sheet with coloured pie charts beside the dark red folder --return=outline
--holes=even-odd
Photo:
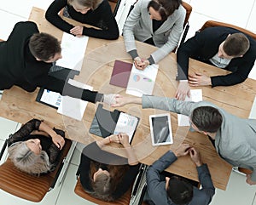
[[[138,97],[143,96],[143,94],[152,94],[158,68],[159,65],[153,64],[148,65],[143,71],[141,71],[133,65],[126,88],[126,94]]]

